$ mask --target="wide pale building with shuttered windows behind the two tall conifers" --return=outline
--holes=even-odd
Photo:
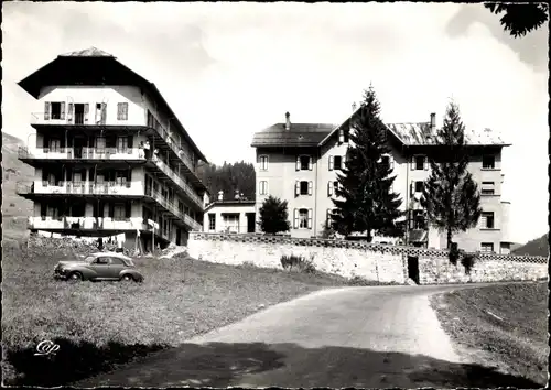
[[[338,185],[337,172],[344,167],[348,149],[350,119],[341,124],[291,123],[289,112],[284,123],[273,124],[255,133],[257,172],[257,215],[269,195],[288,201],[291,236],[321,237],[334,212],[333,198]],[[388,123],[386,156],[393,167],[393,191],[402,198],[407,212],[407,240],[430,248],[445,248],[445,234],[428,226],[419,203],[423,183],[430,175],[429,159],[437,153],[434,143],[435,115],[421,123]],[[480,189],[483,216],[476,228],[454,236],[460,248],[467,251],[508,253],[509,203],[501,201],[501,149],[508,147],[489,129],[467,132],[468,171]],[[389,241],[388,238],[376,238]]]

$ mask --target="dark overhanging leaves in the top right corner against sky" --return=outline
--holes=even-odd
[[[499,20],[505,31],[512,36],[523,36],[532,30],[539,29],[549,19],[548,3],[526,3],[526,4],[484,4],[491,13],[504,15]]]

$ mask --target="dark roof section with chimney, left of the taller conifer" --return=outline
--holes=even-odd
[[[251,147],[317,147],[336,127],[332,123],[276,123],[252,137]]]

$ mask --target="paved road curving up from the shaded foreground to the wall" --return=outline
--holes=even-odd
[[[75,386],[494,387],[457,355],[429,304],[474,286],[324,290]]]

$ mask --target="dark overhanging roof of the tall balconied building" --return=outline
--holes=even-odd
[[[72,69],[67,72],[67,69]],[[99,48],[89,47],[83,51],[58,55],[54,61],[19,82],[19,86],[35,99],[39,98],[42,87],[54,85],[83,85],[97,83],[98,85],[136,85],[147,90],[159,108],[168,112],[171,126],[175,124],[199,160],[208,162],[205,155],[192,140],[176,115],[163,98],[153,83],[150,83],[129,67],[116,59],[115,56]]]

